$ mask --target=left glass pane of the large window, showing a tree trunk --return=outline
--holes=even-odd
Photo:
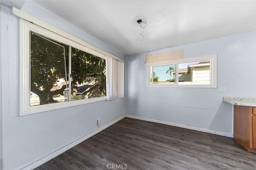
[[[64,101],[66,54],[67,45],[30,32],[30,106]]]

